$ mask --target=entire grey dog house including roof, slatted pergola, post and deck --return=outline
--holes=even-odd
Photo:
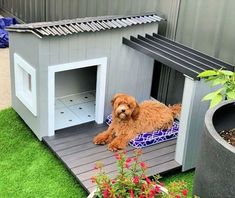
[[[149,175],[195,166],[208,108],[201,98],[210,91],[197,74],[231,66],[159,36],[163,20],[156,14],[104,16],[8,29],[12,106],[88,191],[95,187],[90,181],[95,161],[115,174],[113,154],[92,143],[107,128],[112,96],[150,99],[155,60],[183,78],[177,97],[183,109],[177,140],[144,148]]]

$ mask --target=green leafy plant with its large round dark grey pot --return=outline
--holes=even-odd
[[[199,77],[212,82],[212,86],[219,87],[203,98],[211,100],[211,108],[205,115],[194,194],[206,198],[234,197],[235,72],[209,70],[202,72]]]

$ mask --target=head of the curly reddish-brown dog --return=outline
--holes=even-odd
[[[116,94],[112,101],[114,116],[121,120],[136,119],[139,114],[139,105],[135,98],[126,94]]]

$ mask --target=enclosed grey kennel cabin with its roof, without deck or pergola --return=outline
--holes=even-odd
[[[41,140],[58,129],[103,123],[116,92],[148,98],[153,60],[131,58],[122,37],[157,32],[161,20],[151,14],[9,28],[13,108]]]

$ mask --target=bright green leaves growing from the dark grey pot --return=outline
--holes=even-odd
[[[235,99],[235,72],[228,70],[206,70],[198,75],[210,82],[211,86],[218,86],[218,89],[203,97],[203,101],[210,100],[210,108],[219,104],[222,100]]]

